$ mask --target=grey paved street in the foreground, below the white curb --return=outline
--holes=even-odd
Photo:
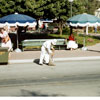
[[[100,96],[100,60],[0,66],[0,96]]]

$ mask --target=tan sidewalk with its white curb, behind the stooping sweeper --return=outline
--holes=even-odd
[[[100,59],[100,43],[94,46],[88,46],[87,51],[81,49],[77,50],[56,50],[54,55],[55,61],[64,60],[88,60]],[[39,59],[40,51],[24,51],[24,52],[11,52],[9,63],[28,63]]]

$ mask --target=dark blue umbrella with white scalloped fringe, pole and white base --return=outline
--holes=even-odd
[[[6,25],[7,26],[36,25],[36,19],[24,14],[15,13],[0,18],[0,27],[4,27]],[[18,44],[18,34],[17,34],[17,49],[15,51],[21,52]]]

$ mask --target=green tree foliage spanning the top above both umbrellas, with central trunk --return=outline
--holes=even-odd
[[[72,15],[94,14],[99,7],[98,0],[74,0]],[[0,17],[18,12],[36,19],[56,19],[60,34],[62,34],[63,25],[70,17],[70,8],[69,0],[0,0]]]

